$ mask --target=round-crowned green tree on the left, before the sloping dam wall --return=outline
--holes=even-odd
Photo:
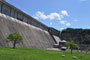
[[[17,43],[23,43],[23,38],[18,33],[13,33],[7,37],[7,42],[12,42],[15,48]]]

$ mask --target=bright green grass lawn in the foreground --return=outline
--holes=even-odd
[[[62,57],[63,54],[66,57]],[[77,56],[77,59],[73,59],[72,56]],[[90,60],[90,54],[77,53],[77,51],[70,54],[70,51],[0,47],[0,60]]]

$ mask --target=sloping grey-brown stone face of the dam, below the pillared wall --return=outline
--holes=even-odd
[[[7,43],[5,39],[15,32],[18,32],[24,40],[24,43],[17,44],[17,47],[46,49],[55,44],[47,31],[0,13],[0,46],[12,46],[12,43]]]

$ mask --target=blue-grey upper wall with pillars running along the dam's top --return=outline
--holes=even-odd
[[[16,7],[14,7],[13,5],[7,3],[7,2],[3,2],[1,0],[0,2],[0,12],[3,14],[6,14],[10,17],[16,18],[20,21],[26,22],[28,24],[31,24],[33,26],[39,27],[43,30],[47,30],[48,31],[48,27],[44,24],[42,24],[41,22],[37,21],[36,19],[32,18],[31,16],[29,16],[28,14],[22,12],[21,10],[17,9]]]

